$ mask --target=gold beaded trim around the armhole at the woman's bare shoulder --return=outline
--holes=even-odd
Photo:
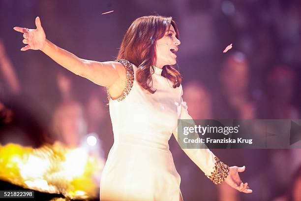
[[[129,92],[131,91],[131,89],[133,87],[134,70],[133,70],[133,65],[125,59],[120,59],[117,62],[122,64],[126,71],[126,84],[125,84],[125,87],[124,87],[124,90],[123,90],[121,96],[117,99],[118,101],[121,101],[121,100],[125,99],[125,97],[129,94]],[[108,87],[107,87],[107,96],[108,96],[108,100],[110,101],[111,96],[110,96]]]

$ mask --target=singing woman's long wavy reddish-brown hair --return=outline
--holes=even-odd
[[[137,18],[128,28],[120,45],[117,60],[125,59],[137,66],[136,81],[152,94],[155,92],[151,89],[151,72],[154,72],[153,66],[156,64],[156,41],[164,36],[170,26],[174,27],[179,39],[179,30],[172,17],[151,15]],[[181,74],[173,66],[164,66],[161,75],[173,82],[173,88],[180,86]]]

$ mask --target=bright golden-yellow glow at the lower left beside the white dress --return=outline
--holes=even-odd
[[[70,199],[95,198],[105,161],[59,142],[41,148],[0,145],[0,180]]]

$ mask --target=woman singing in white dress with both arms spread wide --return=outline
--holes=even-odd
[[[39,17],[23,33],[21,50],[41,50],[62,67],[107,88],[114,144],[100,182],[101,201],[181,201],[178,174],[168,140],[176,139],[178,119],[191,119],[183,102],[176,64],[181,44],[171,17],[136,19],[124,35],[116,61],[81,59],[46,39]],[[213,181],[251,193],[239,173],[209,149],[183,149]]]

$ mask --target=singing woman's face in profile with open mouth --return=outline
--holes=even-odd
[[[156,67],[162,68],[165,65],[175,65],[177,63],[178,45],[181,42],[176,38],[176,31],[173,26],[166,30],[164,36],[156,41]]]

